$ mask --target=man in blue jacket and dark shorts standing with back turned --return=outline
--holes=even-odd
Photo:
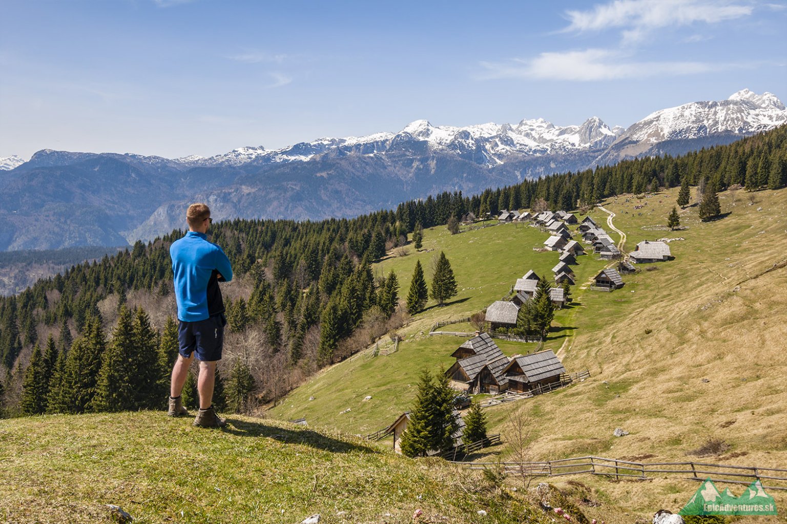
[[[232,267],[221,247],[209,242],[205,234],[212,222],[209,207],[204,203],[191,204],[186,220],[188,233],[169,248],[178,302],[180,350],[172,368],[168,415],[188,415],[180,394],[197,354],[199,412],[194,426],[224,427],[227,421],[216,415],[212,398],[216,363],[221,360],[224,324],[227,324],[219,282],[232,280]]]

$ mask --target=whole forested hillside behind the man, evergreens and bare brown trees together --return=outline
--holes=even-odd
[[[275,401],[305,376],[403,323],[407,313],[397,306],[396,276],[373,274],[371,263],[407,244],[408,233],[419,227],[468,214],[494,215],[504,208],[591,207],[619,193],[681,184],[706,190],[741,185],[753,191],[785,182],[787,128],[781,127],[678,158],[556,174],[472,197],[443,192],[401,203],[396,211],[353,219],[215,224],[211,239],[224,247],[238,275],[224,288],[231,332],[227,346],[233,348],[221,370],[228,381],[226,396],[237,410]],[[168,246],[182,234],[138,242],[131,250],[73,266],[0,299],[6,414],[159,403],[142,392],[166,380],[168,359],[174,357]],[[146,350],[139,353],[141,347]],[[157,351],[162,356],[155,363],[136,362]],[[113,369],[124,358],[135,362]],[[127,397],[106,401],[109,384],[127,384]]]

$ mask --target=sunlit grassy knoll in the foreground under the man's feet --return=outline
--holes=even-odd
[[[540,522],[442,460],[247,417],[222,431],[164,412],[0,420],[0,522]],[[486,518],[478,510],[488,512]]]

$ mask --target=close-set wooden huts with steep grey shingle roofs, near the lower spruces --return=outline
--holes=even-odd
[[[451,354],[456,362],[445,371],[451,386],[471,394],[525,393],[560,384],[566,368],[552,350],[508,358],[488,333],[467,340]]]

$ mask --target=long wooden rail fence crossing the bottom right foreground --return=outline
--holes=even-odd
[[[751,484],[759,480],[765,489],[787,490],[787,469],[759,466],[730,466],[705,462],[631,462],[608,459],[601,456],[580,456],[573,459],[549,460],[546,462],[461,462],[470,469],[502,467],[510,475],[533,477],[560,477],[563,475],[605,475],[610,478],[647,479],[664,475],[679,475],[685,480],[730,484]],[[744,480],[746,479],[746,480]],[[766,485],[767,483],[767,485]]]

